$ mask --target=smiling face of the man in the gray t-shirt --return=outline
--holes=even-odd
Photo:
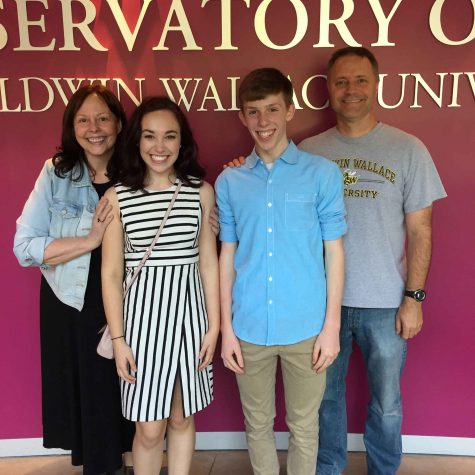
[[[329,72],[328,93],[339,125],[372,127],[377,91],[377,77],[368,58],[342,56]]]

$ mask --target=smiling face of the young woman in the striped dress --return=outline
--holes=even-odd
[[[143,116],[139,148],[147,166],[147,186],[170,184],[180,143],[180,125],[173,112],[164,109]]]

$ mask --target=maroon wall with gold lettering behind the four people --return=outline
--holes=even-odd
[[[59,145],[71,94],[100,81],[128,112],[143,97],[169,95],[188,111],[213,183],[224,162],[252,147],[237,115],[239,79],[263,66],[291,78],[297,113],[289,132],[299,142],[334,124],[325,64],[346,45],[375,53],[378,120],[427,145],[448,193],[434,205],[424,329],[409,343],[403,377],[403,433],[475,437],[475,0],[3,0],[0,438],[41,436],[40,273],[19,267],[12,242],[42,164]],[[198,430],[242,431],[234,376],[219,351],[215,360],[216,400],[198,415]],[[363,428],[363,375],[357,352],[350,432]],[[276,429],[286,430],[281,390],[277,403]]]

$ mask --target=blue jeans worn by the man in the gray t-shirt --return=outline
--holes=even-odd
[[[401,463],[400,377],[406,341],[396,333],[397,308],[342,307],[340,354],[327,370],[320,406],[317,474],[338,475],[347,461],[346,384],[353,339],[368,373],[370,402],[364,443],[368,475],[394,475]]]

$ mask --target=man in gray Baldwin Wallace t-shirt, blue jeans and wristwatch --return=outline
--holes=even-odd
[[[348,214],[340,354],[327,370],[320,408],[318,475],[337,475],[346,465],[345,378],[353,340],[363,353],[371,394],[364,436],[368,473],[395,474],[400,465],[399,380],[406,341],[422,327],[432,203],[446,196],[425,146],[376,121],[378,78],[370,51],[336,51],[328,90],[337,125],[300,144],[339,165]]]

